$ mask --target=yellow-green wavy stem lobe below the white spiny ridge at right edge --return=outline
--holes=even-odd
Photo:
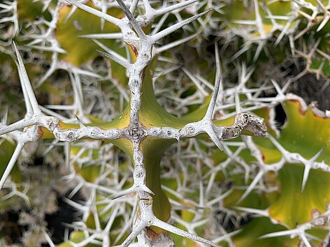
[[[330,173],[310,170],[306,186],[301,192],[303,166],[285,166],[278,173],[280,193],[268,208],[272,218],[294,228],[313,219],[315,211],[327,211],[330,203]]]

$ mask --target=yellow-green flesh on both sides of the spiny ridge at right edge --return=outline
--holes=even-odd
[[[306,159],[324,151],[317,162],[330,163],[330,119],[319,117],[311,108],[303,109],[299,100],[287,100],[283,103],[287,114],[287,123],[276,140],[284,149],[298,153]],[[264,160],[272,163],[282,154],[269,140],[255,139],[259,144]],[[262,145],[262,146],[261,146]],[[275,157],[275,158],[274,158]],[[278,172],[276,179],[280,186],[278,197],[268,208],[269,214],[289,227],[305,223],[312,219],[313,211],[321,214],[327,210],[330,202],[330,173],[322,170],[310,170],[306,187],[302,190],[304,165],[286,163]]]

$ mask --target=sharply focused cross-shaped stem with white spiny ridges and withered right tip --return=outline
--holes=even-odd
[[[118,4],[124,11],[127,20],[129,20],[129,22],[127,22],[126,19],[120,20],[115,17],[111,17],[110,15],[104,15],[99,11],[96,12],[93,8],[88,8],[81,3],[75,1],[72,1],[71,3],[91,13],[100,15],[108,22],[120,27],[124,42],[131,45],[132,50],[136,55],[136,61],[134,63],[125,61],[119,55],[101,52],[104,56],[116,61],[127,69],[127,72],[129,73],[128,84],[131,91],[129,99],[130,104],[127,107],[127,110],[125,110],[117,120],[108,123],[101,123],[99,126],[94,124],[85,126],[78,120],[80,128],[75,128],[74,125],[64,127],[64,123],[61,123],[58,118],[46,116],[43,112],[41,112],[36,96],[34,95],[34,91],[29,82],[29,77],[24,68],[22,58],[20,57],[14,43],[15,53],[17,54],[17,60],[19,63],[18,69],[27,114],[22,121],[12,123],[9,126],[3,126],[1,129],[0,135],[13,133],[17,140],[17,147],[12,158],[10,159],[10,162],[8,163],[8,166],[6,167],[6,170],[3,173],[0,186],[3,186],[4,181],[6,181],[8,174],[17,160],[17,157],[27,142],[34,142],[38,139],[47,138],[50,136],[50,133],[52,133],[57,140],[62,142],[73,142],[84,137],[95,140],[117,140],[117,146],[122,147],[122,149],[127,151],[134,163],[134,184],[131,188],[118,193],[115,198],[122,197],[130,193],[136,193],[138,197],[139,209],[138,217],[134,223],[133,230],[121,246],[129,246],[129,244],[131,244],[131,242],[133,242],[139,235],[142,239],[144,239],[143,241],[146,241],[145,238],[143,238],[143,235],[145,235],[145,228],[150,226],[156,226],[163,230],[167,230],[168,232],[180,234],[182,237],[188,237],[189,239],[201,241],[212,246],[218,246],[212,241],[208,241],[189,232],[185,232],[184,230],[180,230],[178,227],[174,227],[164,221],[168,220],[169,207],[168,201],[166,202],[167,198],[161,191],[159,172],[157,172],[159,168],[155,167],[158,164],[155,163],[155,160],[153,159],[149,162],[146,159],[148,156],[148,158],[151,158],[151,154],[148,155],[148,152],[150,152],[148,149],[152,149],[152,146],[155,145],[156,142],[158,142],[158,149],[161,149],[162,146],[164,149],[164,144],[160,143],[159,139],[180,140],[180,138],[183,137],[194,137],[201,133],[207,133],[213,142],[215,142],[217,147],[223,150],[220,140],[237,137],[243,129],[247,129],[252,134],[257,136],[266,136],[266,130],[261,119],[257,119],[250,114],[240,114],[236,116],[234,125],[230,127],[217,126],[213,123],[213,112],[221,82],[220,59],[218,56],[215,90],[203,119],[199,120],[196,118],[194,122],[189,122],[182,118],[177,119],[169,116],[157,105],[155,96],[152,96],[152,85],[150,84],[150,75],[148,75],[150,71],[146,68],[152,60],[152,46],[159,39],[173,33],[173,31],[176,31],[177,29],[180,29],[185,26],[185,24],[196,20],[198,17],[206,14],[206,12],[190,17],[182,22],[178,22],[178,24],[175,24],[172,27],[168,27],[167,29],[149,36],[145,34],[145,32],[141,29],[141,25],[138,24],[138,21],[132,15],[132,12],[134,13],[134,8],[136,8],[134,5],[132,5],[133,7],[131,7],[132,9],[130,10],[122,1],[118,1]],[[182,7],[182,4],[175,6],[175,8],[180,7]],[[134,28],[134,30],[131,29],[130,25]],[[142,96],[142,94],[144,95]],[[155,109],[155,107],[158,109]],[[156,110],[157,112],[155,112]],[[150,117],[152,114],[154,116]],[[156,119],[156,121],[153,121],[152,119]],[[157,123],[157,119],[161,119],[162,123],[160,125]],[[125,123],[128,123],[128,125],[125,126]],[[18,130],[28,126],[34,127],[28,128],[25,132],[17,132]],[[143,140],[145,141],[148,137],[149,143],[143,145]],[[127,142],[127,140],[131,143]],[[145,154],[143,154],[143,151]],[[152,190],[155,191],[155,193]],[[152,198],[150,194],[154,195],[154,198]],[[153,207],[153,200],[157,202],[155,207]],[[157,216],[155,216],[154,211]],[[94,235],[95,237],[103,234],[108,235],[108,231],[109,229],[106,227],[100,232],[95,232]],[[108,246],[108,244],[109,239],[104,237],[103,245]]]

